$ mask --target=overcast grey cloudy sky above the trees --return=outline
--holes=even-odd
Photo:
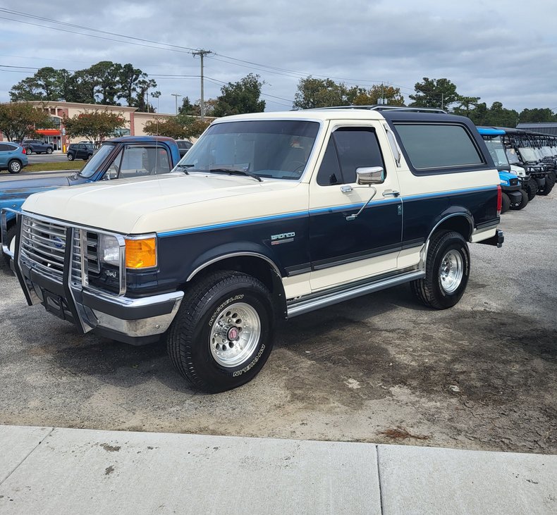
[[[80,70],[114,61],[133,63],[157,80],[159,112],[173,113],[172,93],[200,98],[200,60],[190,52],[206,49],[214,54],[204,61],[205,99],[218,96],[224,83],[257,73],[266,82],[267,111],[291,108],[300,77],[308,75],[362,87],[388,83],[407,101],[422,77],[446,77],[460,94],[481,97],[488,106],[501,101],[518,111],[557,111],[554,0],[19,5],[0,2],[0,101],[36,68]],[[20,15],[5,11],[16,9]]]

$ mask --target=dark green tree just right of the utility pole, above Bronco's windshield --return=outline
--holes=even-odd
[[[264,84],[265,82],[259,80],[259,75],[253,73],[238,82],[228,82],[221,87],[221,96],[216,98],[213,115],[228,116],[264,111],[265,101],[259,99]]]

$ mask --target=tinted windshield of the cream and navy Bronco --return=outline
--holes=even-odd
[[[319,123],[245,120],[216,123],[185,154],[188,173],[235,168],[260,178],[298,180],[305,170]]]

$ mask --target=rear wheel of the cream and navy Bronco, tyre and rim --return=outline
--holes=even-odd
[[[412,290],[426,306],[447,309],[463,296],[470,275],[470,252],[460,232],[438,232],[427,249],[425,277]]]

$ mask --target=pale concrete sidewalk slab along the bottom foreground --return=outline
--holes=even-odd
[[[553,514],[557,456],[0,426],[1,514]]]

